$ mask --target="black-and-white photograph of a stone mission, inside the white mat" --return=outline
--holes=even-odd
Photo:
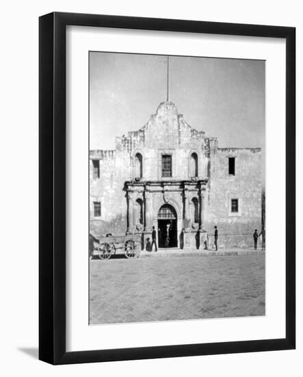
[[[264,316],[265,61],[88,64],[89,324]]]

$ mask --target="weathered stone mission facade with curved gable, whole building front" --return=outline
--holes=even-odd
[[[114,150],[90,151],[90,232],[140,234],[144,248],[154,226],[159,247],[211,249],[218,226],[218,247],[252,247],[261,163],[260,148],[219,148],[162,102]]]

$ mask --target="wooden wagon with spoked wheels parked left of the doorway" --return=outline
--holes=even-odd
[[[94,250],[101,259],[109,259],[117,250],[124,252],[127,258],[138,258],[141,252],[141,235],[104,236],[98,238]],[[118,254],[118,253],[117,253]],[[120,254],[120,253],[119,253]]]

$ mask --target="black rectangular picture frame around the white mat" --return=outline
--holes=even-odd
[[[286,337],[66,352],[66,26],[285,38]],[[39,358],[51,364],[226,354],[295,348],[295,28],[96,14],[39,20]],[[278,178],[277,178],[278,180]]]

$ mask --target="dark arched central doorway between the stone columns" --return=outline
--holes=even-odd
[[[161,206],[158,212],[159,247],[177,247],[177,216],[170,204]]]

